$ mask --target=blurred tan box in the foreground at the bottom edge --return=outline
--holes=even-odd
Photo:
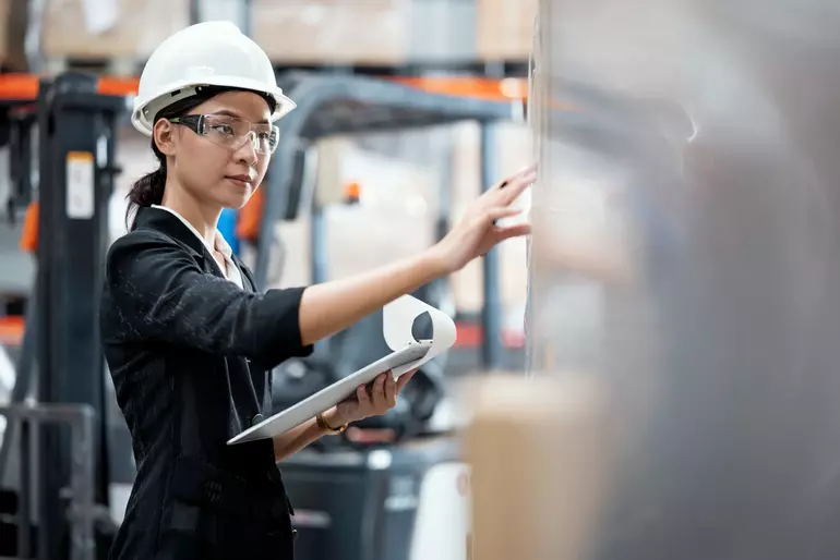
[[[560,374],[472,382],[471,557],[587,557],[611,470],[604,387],[596,376]]]

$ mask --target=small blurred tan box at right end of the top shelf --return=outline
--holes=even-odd
[[[478,58],[528,60],[533,47],[537,0],[476,0]]]

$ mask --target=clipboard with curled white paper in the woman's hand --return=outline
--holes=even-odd
[[[314,418],[317,414],[329,410],[344,401],[356,391],[360,385],[373,381],[380,374],[391,370],[395,378],[445,352],[455,343],[457,337],[455,321],[420,300],[404,295],[383,307],[383,334],[385,343],[393,352],[372,364],[325,387],[315,394],[308,397],[279,412],[260,424],[251,426],[241,434],[228,440],[228,446],[275,438],[286,431]],[[432,339],[415,340],[411,330],[415,319],[428,313],[432,319]]]

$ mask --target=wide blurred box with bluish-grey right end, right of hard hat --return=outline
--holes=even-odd
[[[457,0],[253,0],[253,37],[279,64],[391,65],[475,58]]]

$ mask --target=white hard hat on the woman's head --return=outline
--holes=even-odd
[[[230,22],[205,22],[171,35],[148,58],[131,122],[151,136],[161,109],[206,86],[249,89],[273,99],[273,122],[296,107],[277,86],[272,61],[256,42]]]

